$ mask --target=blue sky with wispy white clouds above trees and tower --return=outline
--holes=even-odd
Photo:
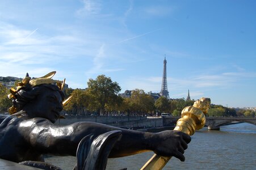
[[[125,90],[256,107],[256,1],[0,1],[0,76],[104,74]]]

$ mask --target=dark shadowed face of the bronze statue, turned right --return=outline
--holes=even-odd
[[[58,91],[44,88],[44,91],[36,97],[30,104],[27,104],[24,111],[30,117],[47,118],[51,122],[56,122],[62,111],[62,98]]]

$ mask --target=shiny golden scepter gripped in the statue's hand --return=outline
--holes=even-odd
[[[205,125],[204,114],[208,112],[210,104],[211,99],[202,97],[196,100],[193,106],[184,108],[174,130],[193,135],[196,130],[202,129]],[[140,170],[162,169],[170,159],[171,156],[154,154]]]

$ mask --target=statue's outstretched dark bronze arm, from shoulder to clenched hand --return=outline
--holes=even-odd
[[[110,153],[111,158],[152,150],[160,155],[178,156],[183,159],[182,154],[190,141],[189,136],[187,137],[186,134],[178,131],[148,133],[115,128],[95,122],[77,122],[68,126],[37,122],[31,126],[29,141],[33,147],[41,152],[75,156],[78,143],[83,137],[94,134],[96,138],[98,135],[111,130],[122,131],[120,141],[115,144]]]

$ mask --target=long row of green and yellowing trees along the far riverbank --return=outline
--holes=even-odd
[[[72,95],[72,100],[65,106],[67,114],[79,115],[122,115],[122,116],[160,116],[161,113],[171,113],[180,116],[184,107],[193,105],[194,100],[166,99],[160,97],[156,101],[144,90],[135,89],[131,97],[121,97],[121,87],[112,82],[110,77],[99,75],[96,79],[89,79],[85,90],[66,88],[65,96]],[[0,84],[0,111],[7,112],[12,103],[7,98],[9,90]],[[207,116],[246,116],[254,117],[255,112],[250,110],[236,111],[222,105],[211,105]]]

